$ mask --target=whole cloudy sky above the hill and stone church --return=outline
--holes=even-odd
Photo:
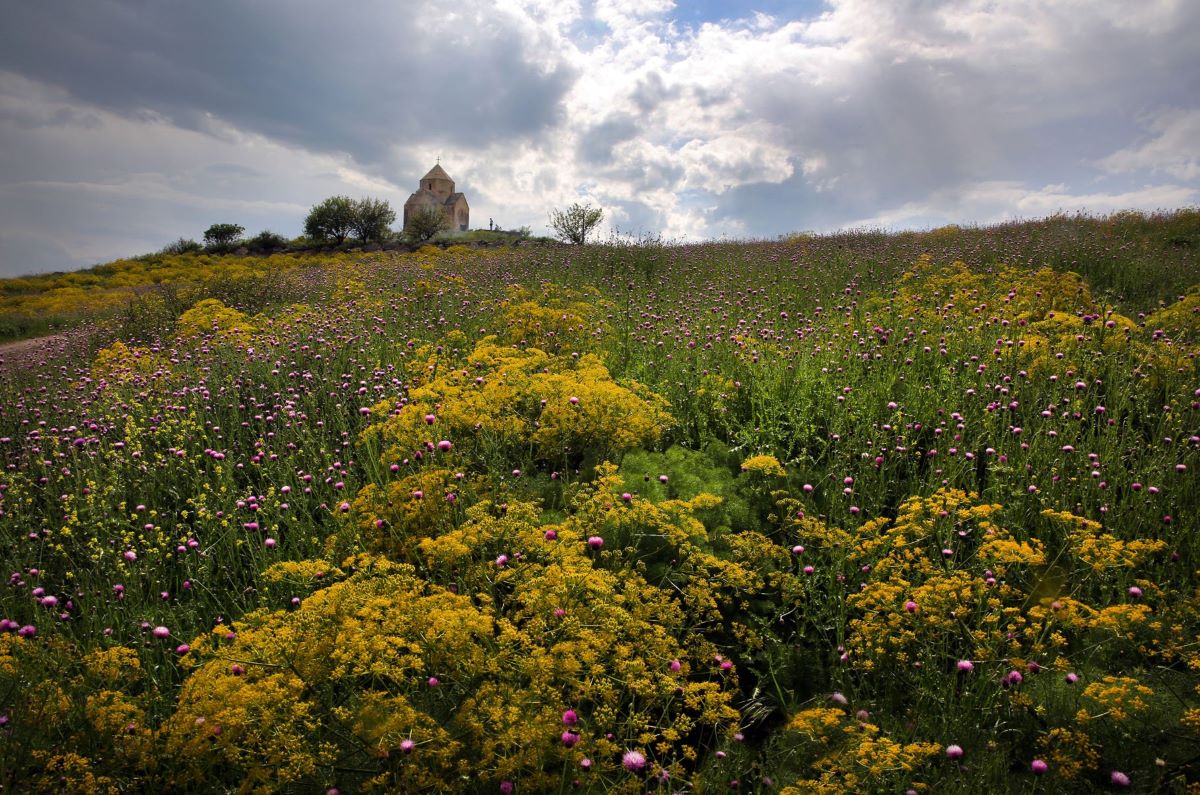
[[[1195,0],[38,0],[0,275],[298,235],[442,159],[472,223],[667,239],[1200,204]],[[448,11],[454,8],[454,11]]]

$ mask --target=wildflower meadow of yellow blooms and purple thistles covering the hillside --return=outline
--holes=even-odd
[[[1195,788],[1198,251],[1180,211],[0,283],[182,286],[0,364],[0,783]]]

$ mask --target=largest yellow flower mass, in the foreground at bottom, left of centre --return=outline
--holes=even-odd
[[[686,503],[635,516],[612,494],[618,483],[601,467],[558,524],[529,503],[481,502],[414,545],[424,576],[359,556],[299,609],[198,639],[203,662],[163,729],[184,760],[173,783],[222,770],[265,793],[353,769],[365,789],[457,791],[470,775],[539,790],[583,757],[616,773],[632,747],[684,771],[696,755],[684,737],[736,724],[736,673],[694,634],[686,599],[598,566],[608,551],[584,538],[604,532],[617,545],[626,533],[637,544],[649,525],[684,549],[704,528]],[[745,584],[746,573],[714,561],[696,562],[696,576],[725,593]],[[332,570],[276,566],[266,579]],[[566,710],[578,716],[570,742]]]

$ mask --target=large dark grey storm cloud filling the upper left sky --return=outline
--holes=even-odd
[[[364,163],[402,141],[536,136],[574,78],[526,59],[512,18],[461,2],[7,4],[0,70],[126,115],[233,126]]]

